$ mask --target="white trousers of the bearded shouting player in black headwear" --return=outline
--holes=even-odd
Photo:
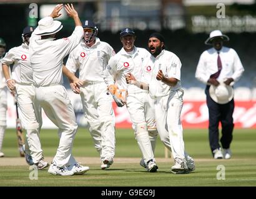
[[[174,159],[185,160],[183,129],[180,113],[183,106],[184,91],[170,91],[170,95],[160,96],[155,101],[155,121],[160,140],[171,148]]]

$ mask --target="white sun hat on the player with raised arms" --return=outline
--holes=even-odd
[[[34,34],[36,35],[51,35],[61,30],[63,25],[60,21],[53,20],[52,17],[44,17],[38,22]]]

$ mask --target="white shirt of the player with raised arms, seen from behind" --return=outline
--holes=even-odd
[[[38,29],[39,27],[37,27]],[[82,26],[76,26],[71,36],[63,39],[42,39],[32,33],[29,55],[33,79],[37,86],[61,85],[62,61],[81,41],[84,35]]]

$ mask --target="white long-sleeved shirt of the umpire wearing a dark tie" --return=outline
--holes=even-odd
[[[235,52],[234,49],[222,47],[219,51],[219,55],[222,62],[222,70],[220,71],[220,75],[217,80],[222,81],[225,78],[233,78],[234,81],[238,81],[244,72],[244,67],[240,61],[239,55],[237,55],[237,52]],[[209,80],[210,75],[218,71],[217,58],[217,50],[214,48],[205,50],[200,55],[197,70],[195,72],[195,78],[205,84],[209,84],[207,81]]]

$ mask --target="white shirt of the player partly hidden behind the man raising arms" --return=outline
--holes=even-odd
[[[14,63],[12,67],[12,80],[15,80],[17,83],[31,84],[34,82],[27,44],[21,44],[10,49],[4,56],[2,63],[6,65]]]

